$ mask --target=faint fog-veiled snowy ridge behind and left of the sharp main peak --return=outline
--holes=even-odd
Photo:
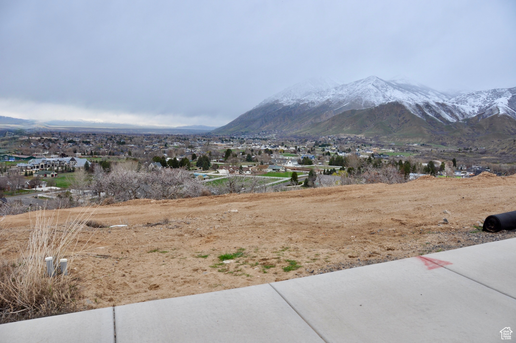
[[[304,98],[313,92],[333,88],[338,85],[338,83],[331,79],[325,79],[324,77],[313,77],[312,79],[296,83],[293,86],[283,89],[275,95],[268,97],[267,99],[259,103],[256,107],[260,107],[262,105],[265,105],[276,100],[279,100],[285,105],[289,105],[291,103],[294,103],[294,100]]]

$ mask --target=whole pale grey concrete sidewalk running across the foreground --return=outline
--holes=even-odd
[[[0,342],[494,342],[516,329],[515,260],[516,238],[3,324]]]

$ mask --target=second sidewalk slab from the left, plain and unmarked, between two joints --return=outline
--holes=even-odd
[[[115,318],[117,343],[322,343],[268,284],[117,306]]]

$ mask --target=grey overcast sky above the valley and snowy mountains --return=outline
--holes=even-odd
[[[0,115],[220,126],[314,76],[516,86],[516,2],[0,0]]]

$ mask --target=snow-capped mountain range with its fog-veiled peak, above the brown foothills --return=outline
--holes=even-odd
[[[369,76],[342,85],[331,80],[311,79],[265,99],[214,133],[303,132],[348,110],[377,106],[381,108],[375,111],[380,111],[382,116],[389,111],[404,111],[423,119],[430,126],[436,123],[446,126],[475,117],[476,121],[471,121],[473,123],[493,115],[516,119],[516,87],[477,91],[451,98],[406,77],[385,81]],[[359,118],[352,120],[359,121]]]

